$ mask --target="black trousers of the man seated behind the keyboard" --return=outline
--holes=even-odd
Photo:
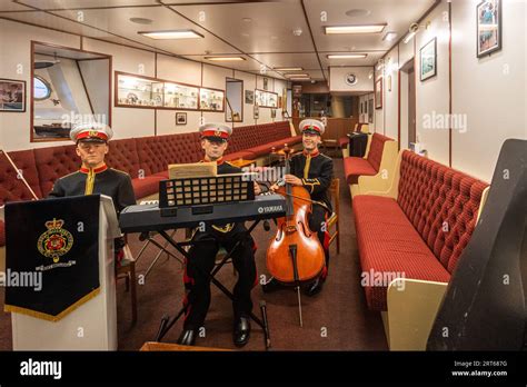
[[[246,230],[245,226],[237,225],[230,232],[223,234],[207,226],[205,232],[197,231],[193,236],[195,241],[211,240],[201,241],[192,246],[189,251],[183,279],[187,289],[183,301],[187,306],[185,329],[198,329],[203,325],[210,305],[210,280],[206,274],[212,271],[219,248],[223,247],[230,251],[240,239],[242,240],[240,246],[231,256],[232,265],[238,271],[238,281],[232,291],[235,320],[252,310],[250,291],[256,282],[255,244]]]

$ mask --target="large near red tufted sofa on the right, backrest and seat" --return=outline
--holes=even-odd
[[[354,197],[362,272],[448,282],[488,185],[408,150],[398,169],[395,197]],[[387,310],[386,284],[365,292],[369,309]]]

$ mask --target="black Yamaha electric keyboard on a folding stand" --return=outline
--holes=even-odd
[[[160,231],[192,228],[200,222],[239,222],[281,218],[286,199],[277,194],[260,195],[255,200],[178,208],[159,208],[159,204],[129,206],[119,216],[122,232]]]

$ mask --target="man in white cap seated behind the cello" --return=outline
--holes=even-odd
[[[309,228],[317,232],[326,256],[326,267],[322,274],[305,288],[308,296],[315,296],[322,289],[329,268],[329,234],[326,221],[332,211],[328,189],[334,176],[334,162],[331,158],[318,151],[325,131],[325,125],[321,121],[306,119],[300,122],[299,129],[302,133],[304,151],[294,155],[289,160],[290,175],[286,175],[285,180],[294,186],[306,188],[314,200],[312,212],[309,216]],[[271,187],[271,189],[276,188],[276,186]],[[262,287],[265,292],[279,288],[280,284],[274,278]]]

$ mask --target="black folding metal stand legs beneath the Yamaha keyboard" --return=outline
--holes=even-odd
[[[246,237],[249,236],[255,227],[260,222],[260,220],[255,220],[252,225],[249,227],[249,229],[246,231]],[[187,260],[190,262],[190,257],[188,251],[185,249],[186,246],[193,246],[198,245],[200,242],[206,242],[210,241],[209,239],[201,239],[199,241],[183,241],[183,242],[177,242],[173,240],[172,236],[169,236],[165,230],[159,231],[159,235],[162,236],[167,242],[169,242],[176,250],[178,250],[183,257],[187,258]],[[227,262],[228,259],[232,256],[235,250],[240,246],[241,240],[238,240],[236,245],[230,249],[230,251],[227,252],[227,255],[221,259],[221,261],[213,268],[211,272],[205,274],[200,267],[195,267],[197,270],[200,270],[201,274],[205,274],[209,277],[209,280],[216,285],[227,297],[229,297],[231,300],[235,299],[235,296],[232,292],[229,291],[219,280],[215,278],[215,276],[218,274],[218,271],[223,267],[223,265]],[[156,341],[161,341],[161,339],[167,335],[167,333],[172,328],[172,326],[176,324],[176,321],[185,314],[186,307],[183,306],[179,312],[170,319],[168,315],[165,315],[161,319],[161,324],[159,326],[159,331],[156,337]],[[270,340],[270,335],[269,335],[269,326],[267,322],[267,315],[266,315],[266,308],[265,308],[265,302],[260,302],[260,311],[262,314],[262,320],[260,320],[252,311],[249,314],[249,317],[264,329],[264,340],[265,340],[265,346],[266,350],[270,348],[271,346],[271,340]]]

